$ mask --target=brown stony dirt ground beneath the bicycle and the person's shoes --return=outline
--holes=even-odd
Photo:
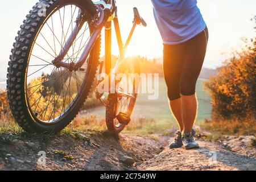
[[[0,135],[0,170],[256,170],[255,155],[199,139],[201,148],[170,150],[170,137],[68,131],[56,136]],[[255,147],[247,148],[254,151]],[[45,164],[38,156],[46,154]]]

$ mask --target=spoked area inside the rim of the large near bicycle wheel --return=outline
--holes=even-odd
[[[52,60],[68,46],[67,41],[72,35],[74,40],[61,61],[71,64],[80,59],[91,33],[90,24],[84,16],[75,5],[63,6],[49,16],[38,32],[27,65],[26,91],[28,105],[34,111],[33,117],[39,121],[60,121],[80,98],[89,59],[77,71],[57,68]]]

